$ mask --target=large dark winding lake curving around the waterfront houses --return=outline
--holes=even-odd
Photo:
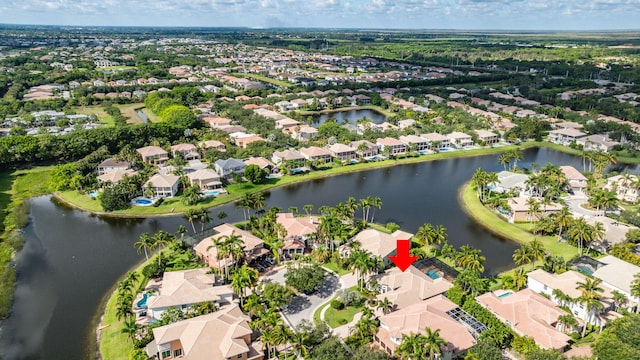
[[[487,272],[495,274],[512,265],[511,255],[518,245],[474,223],[456,196],[475,169],[502,170],[497,159],[498,155],[455,158],[318,179],[274,189],[266,194],[266,205],[297,206],[302,212],[305,204],[317,209],[349,196],[379,196],[383,207],[376,210],[376,222],[393,221],[409,232],[427,222],[442,224],[451,244],[482,249]],[[582,169],[580,158],[549,149],[525,150],[518,164],[530,167],[549,162]],[[638,172],[636,166],[630,170]],[[220,210],[229,215],[226,221],[242,220],[242,211],[233,204],[212,209],[212,217]],[[32,199],[30,216],[24,249],[16,258],[13,313],[2,324],[0,349],[5,360],[93,358],[94,315],[101,300],[127,270],[144,259],[132,244],[143,232],[175,232],[181,224],[191,228],[176,216],[103,219],[58,205],[46,196]]]

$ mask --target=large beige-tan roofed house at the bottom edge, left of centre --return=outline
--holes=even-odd
[[[261,360],[261,345],[254,346],[249,316],[236,304],[211,314],[153,329],[147,355],[157,359]]]

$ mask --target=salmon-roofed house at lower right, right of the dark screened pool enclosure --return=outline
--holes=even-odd
[[[533,338],[543,349],[564,351],[569,346],[571,338],[556,329],[558,317],[567,315],[566,311],[531,289],[502,294],[488,292],[476,300],[518,335]]]

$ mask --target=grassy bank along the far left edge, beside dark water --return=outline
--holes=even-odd
[[[9,317],[15,290],[16,271],[11,266],[15,251],[22,248],[22,232],[29,221],[33,196],[48,193],[50,168],[0,172],[0,319]]]

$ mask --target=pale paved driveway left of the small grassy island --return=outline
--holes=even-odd
[[[263,281],[277,281],[284,285],[284,274],[286,272],[286,268],[273,271],[267,274]],[[338,289],[340,289],[338,277],[332,273],[327,273],[324,283],[318,287],[318,290],[311,295],[300,294],[295,296],[282,313],[289,324],[295,328],[302,320],[311,320],[316,309],[333,298]]]

